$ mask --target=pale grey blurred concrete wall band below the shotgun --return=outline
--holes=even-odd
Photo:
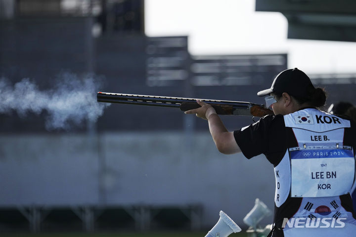
[[[242,227],[255,198],[273,209],[273,166],[207,132],[1,135],[0,173],[1,207],[202,204],[203,226],[223,210]]]

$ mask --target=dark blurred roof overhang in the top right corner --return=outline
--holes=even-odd
[[[281,12],[288,39],[356,42],[354,0],[256,0],[256,11]]]

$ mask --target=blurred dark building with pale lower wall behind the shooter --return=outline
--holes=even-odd
[[[48,90],[70,71],[102,76],[102,92],[262,104],[256,92],[287,68],[286,53],[190,55],[187,39],[145,36],[143,0],[0,0],[0,77],[13,84]],[[312,80],[354,99],[355,75]],[[45,115],[0,115],[0,232],[201,230],[220,210],[242,225],[256,197],[273,207],[266,159],[222,159],[206,123],[177,109],[112,104],[70,132],[47,131]]]

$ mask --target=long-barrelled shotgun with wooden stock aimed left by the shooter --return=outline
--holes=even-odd
[[[98,102],[174,107],[180,108],[182,111],[200,107],[200,105],[196,102],[197,99],[194,98],[166,97],[156,95],[131,95],[106,92],[98,92],[96,94],[96,98]],[[261,104],[215,99],[200,100],[211,104],[215,108],[217,114],[221,115],[246,115],[263,117],[268,114],[274,114],[272,110]]]

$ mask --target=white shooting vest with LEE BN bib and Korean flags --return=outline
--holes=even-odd
[[[344,131],[350,128],[350,121],[308,108],[285,115],[284,122],[297,142],[293,142],[295,147],[287,148],[274,168],[276,207],[287,198],[301,197],[293,217],[343,217],[355,224],[340,200],[340,195],[350,192],[355,180],[354,150],[344,145]]]

